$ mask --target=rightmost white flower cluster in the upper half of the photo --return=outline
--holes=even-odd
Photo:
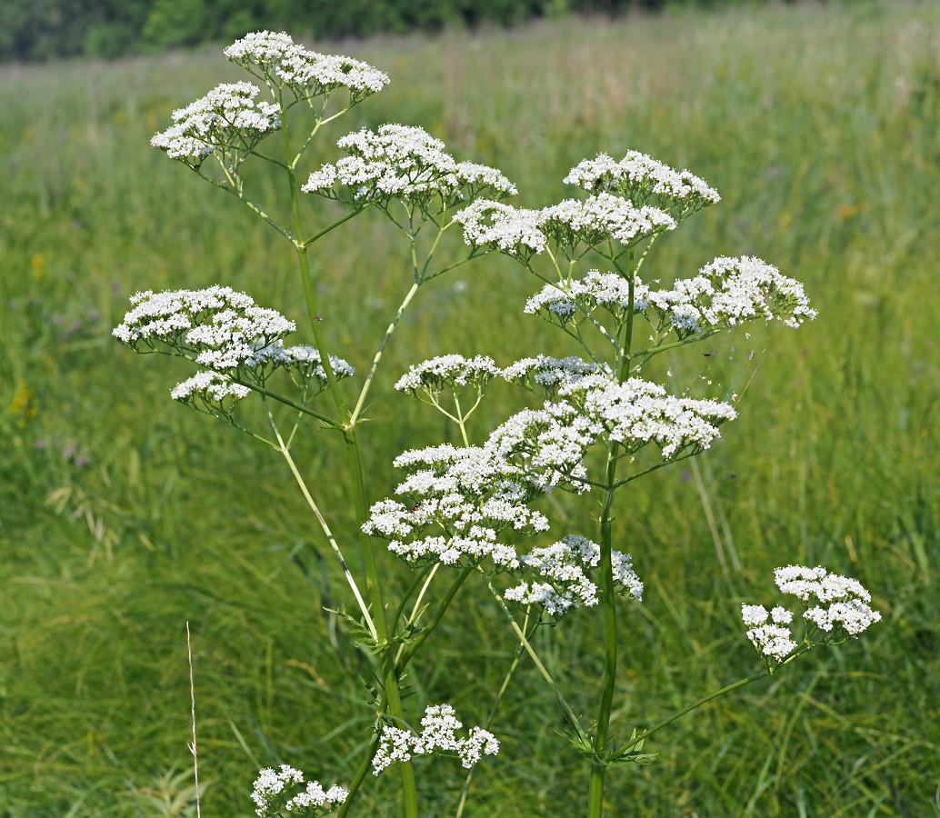
[[[794,329],[816,318],[799,281],[750,256],[719,257],[671,290],[651,291],[649,300],[680,338],[759,318],[776,317]]]

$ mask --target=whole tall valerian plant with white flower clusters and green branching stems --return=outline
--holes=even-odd
[[[776,320],[798,328],[816,317],[803,286],[748,256],[719,257],[667,287],[641,277],[658,238],[720,197],[689,171],[636,151],[620,160],[602,153],[576,165],[564,181],[580,188],[581,196],[540,210],[507,204],[516,188],[499,170],[457,161],[444,143],[416,126],[386,124],[347,134],[337,142],[345,156],[306,168],[304,176],[307,150],[323,127],[382,90],[387,76],[359,60],[309,51],[286,34],[249,34],[226,55],[258,85],[212,89],[174,112],[173,125],[155,135],[152,145],[239,198],[292,245],[305,293],[308,343],[289,343],[299,332],[294,321],[225,286],[138,292],[114,334],[135,352],[191,361],[195,374],[173,387],[171,397],[283,456],[349,585],[356,613],[345,617],[375,669],[374,728],[352,780],[324,789],[286,763],[276,772],[262,770],[251,795],[259,816],[334,810],[345,815],[369,773],[378,776],[395,766],[404,813],[415,818],[420,808],[412,759],[431,754],[455,757],[470,771],[461,814],[474,765],[498,751],[497,735],[489,729],[496,704],[527,655],[556,696],[573,747],[586,759],[585,811],[597,818],[607,769],[652,762],[655,753],[643,747],[653,733],[814,647],[856,637],[880,619],[870,608],[870,594],[855,580],[823,568],[780,568],[779,590],[806,606],[795,621],[804,630],[794,632],[794,615],[783,606],[768,611],[744,605],[746,636],[763,669],[616,740],[611,722],[623,637],[618,622],[625,604],[642,599],[644,586],[635,572],[642,558],[614,548],[625,539],[617,533],[615,497],[633,480],[697,456],[737,417],[729,402],[694,399],[688,390],[671,394],[641,372],[659,354],[746,322]],[[287,219],[278,220],[256,198],[243,176],[249,161],[284,174]],[[342,215],[314,223],[311,205],[320,198],[334,202]],[[318,320],[321,304],[309,254],[323,236],[367,212],[380,213],[399,228],[413,275],[359,375],[334,354],[333,338]],[[437,254],[448,230],[462,233],[465,251],[441,263]],[[509,256],[540,282],[525,313],[556,327],[581,354],[535,354],[499,366],[472,351],[471,357],[446,354],[415,364],[395,388],[443,413],[462,445],[445,442],[401,453],[395,465],[403,479],[390,496],[374,499],[382,492],[366,484],[360,425],[367,406],[390,402],[368,400],[384,350],[421,287],[491,253]],[[585,269],[588,259],[601,260],[603,269]],[[497,421],[484,439],[471,441],[467,418],[494,381],[527,390],[538,400]],[[249,399],[264,407],[265,428],[253,428],[239,413]],[[355,534],[334,530],[293,460],[292,444],[311,418],[321,433],[335,433],[345,443],[350,504],[359,525]],[[552,524],[539,501],[556,491],[589,493],[599,504],[597,523],[550,534]],[[524,547],[526,542],[532,544]],[[415,572],[399,599],[391,598],[386,572],[380,571],[387,557],[377,550],[379,543]],[[356,550],[365,576],[357,576],[345,558]],[[413,728],[415,716],[401,701],[403,675],[415,655],[432,646],[429,637],[471,578],[492,595],[501,621],[513,632],[516,660],[494,692],[484,726],[462,731],[454,707],[438,704]],[[587,721],[575,714],[563,682],[550,674],[532,640],[542,625],[567,625],[581,608],[598,611],[604,635],[603,679],[596,711]]]

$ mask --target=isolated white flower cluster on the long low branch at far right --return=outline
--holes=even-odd
[[[856,579],[802,565],[777,568],[774,574],[779,590],[807,605],[803,613],[810,628],[804,639],[807,645],[839,644],[882,619],[870,607],[871,594]],[[808,607],[812,602],[818,604]],[[792,614],[786,608],[775,607],[768,614],[764,606],[743,605],[741,612],[750,628],[747,637],[762,655],[782,662],[799,647],[789,627]]]

